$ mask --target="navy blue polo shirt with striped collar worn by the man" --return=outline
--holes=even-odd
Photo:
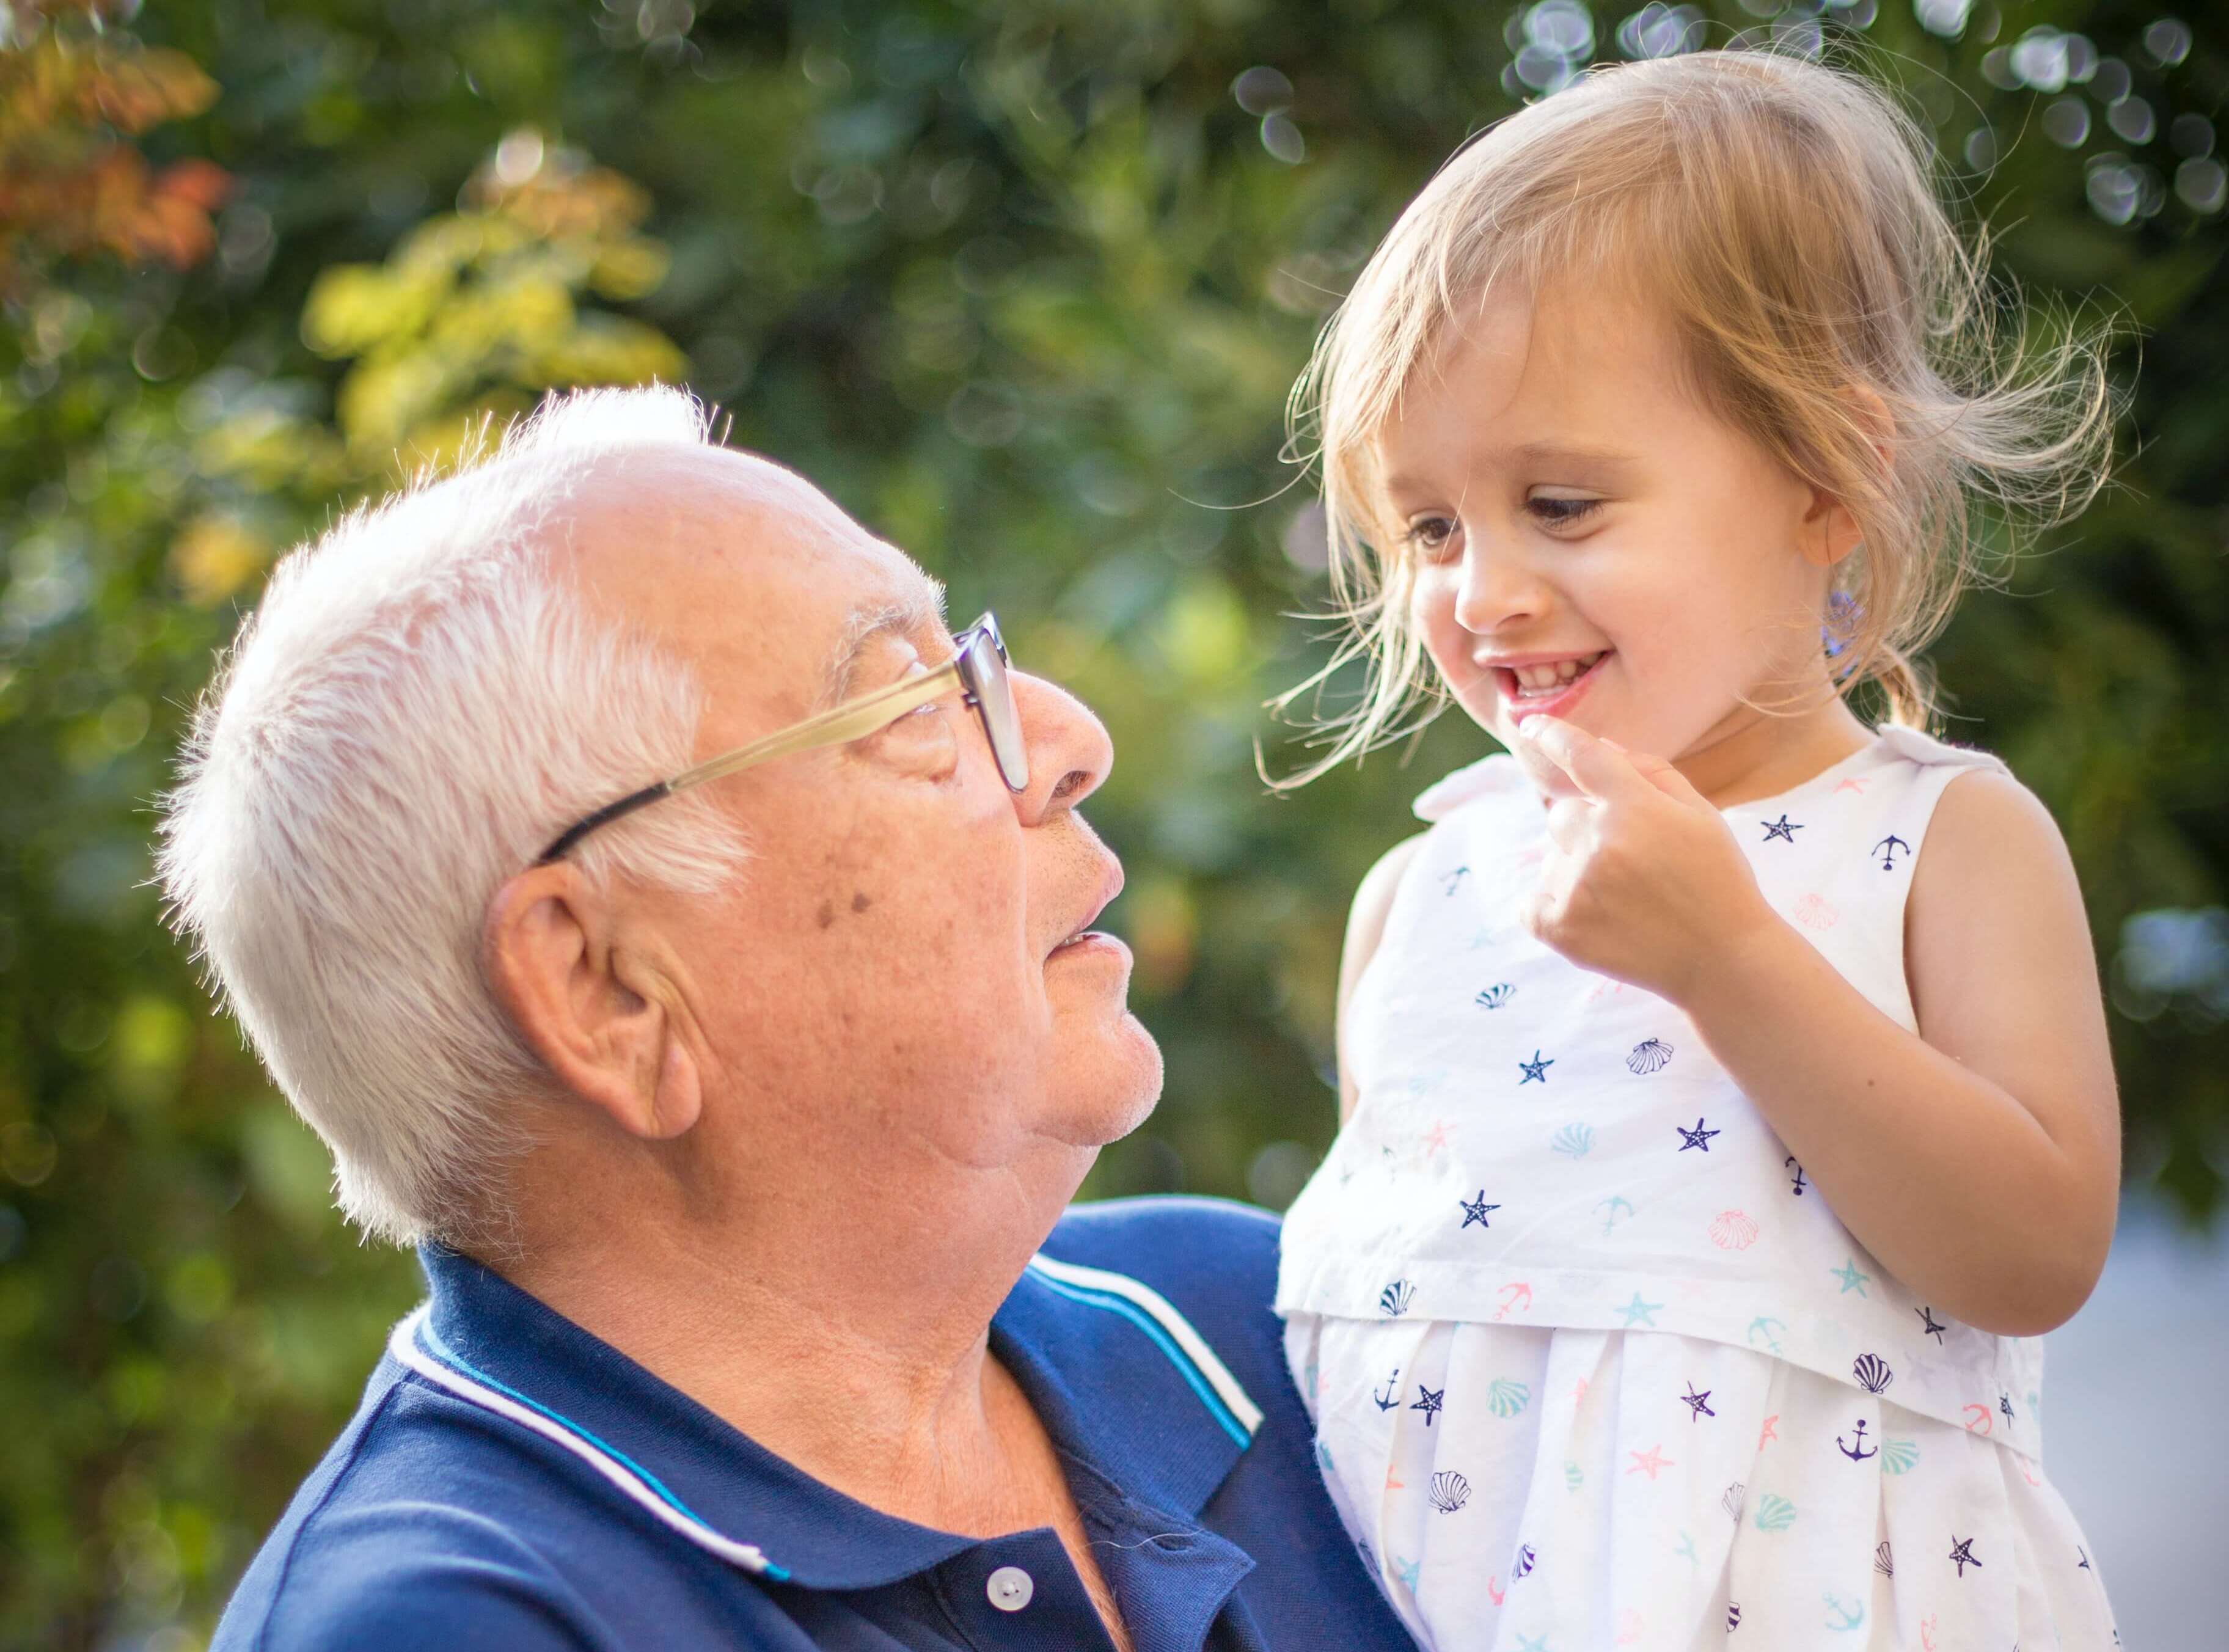
[[[212,1652],[1081,1652],[1059,1536],[934,1532],[760,1449],[488,1269],[424,1253],[354,1420]],[[1413,1652],[1324,1496],[1268,1309],[1277,1224],[1077,1206],[990,1327],[1139,1652]]]

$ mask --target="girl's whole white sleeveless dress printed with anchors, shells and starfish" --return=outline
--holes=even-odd
[[[1723,809],[1765,898],[1917,1032],[1904,898],[1941,789],[1901,727]],[[2044,1480],[2042,1344],[1841,1226],[1670,1001],[1534,941],[1509,756],[1433,823],[1349,1005],[1353,1119],[1277,1311],[1364,1561],[1433,1652],[2120,1643]]]

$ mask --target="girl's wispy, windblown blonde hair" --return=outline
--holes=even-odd
[[[1458,310],[1505,283],[1603,281],[1654,305],[1703,404],[1848,506],[1863,544],[1834,571],[1837,684],[1877,682],[1890,720],[1926,727],[1935,691],[1912,655],[1968,584],[2002,582],[1975,508],[2035,526],[2080,515],[2122,410],[2106,377],[2115,325],[2055,325],[1995,283],[1986,227],[1968,250],[1933,169],[1930,136],[1879,85],[1770,49],[1605,65],[1460,149],[1293,386],[1288,457],[1322,466],[1346,635],[1271,704],[1320,702],[1355,660],[1366,676],[1353,707],[1313,718],[1331,751],[1273,785],[1313,780],[1447,704],[1409,618],[1415,564],[1398,551],[1375,437]]]

